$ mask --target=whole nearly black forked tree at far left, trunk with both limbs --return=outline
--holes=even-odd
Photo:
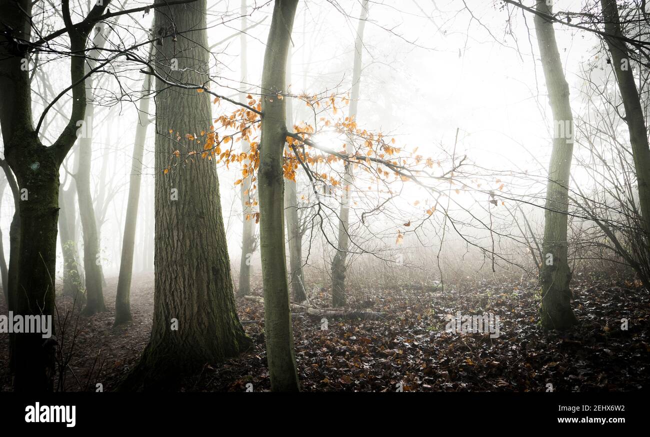
[[[73,25],[62,2],[62,14],[72,53],[85,53],[92,19]],[[90,15],[101,15],[105,5],[96,5]],[[5,142],[5,158],[16,175],[21,190],[19,203],[20,239],[18,281],[14,313],[54,314],[57,218],[59,215],[59,166],[75,142],[77,121],[85,118],[85,58],[70,57],[72,108],[59,138],[45,147],[34,129],[31,111],[31,85],[23,59],[28,58],[31,40],[29,0],[0,1],[7,32],[0,35],[0,126]],[[24,195],[24,197],[23,197]],[[34,232],[38,230],[38,232]],[[16,334],[10,343],[14,359],[14,389],[42,392],[53,390],[53,342],[40,333]]]

